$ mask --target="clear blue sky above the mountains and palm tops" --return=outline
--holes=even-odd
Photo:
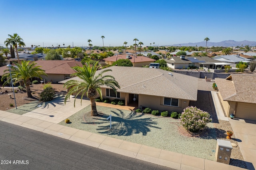
[[[122,46],[256,41],[256,0],[0,0],[0,45]]]

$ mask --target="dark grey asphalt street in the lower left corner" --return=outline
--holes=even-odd
[[[1,170],[172,170],[0,121]]]

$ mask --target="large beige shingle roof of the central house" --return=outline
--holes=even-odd
[[[106,74],[114,76],[118,81],[119,92],[197,100],[198,79],[196,77],[174,72],[172,76],[168,74],[169,71],[145,67],[112,66],[107,69],[112,69]],[[100,71],[98,70],[97,73]],[[78,77],[71,79],[80,80]]]

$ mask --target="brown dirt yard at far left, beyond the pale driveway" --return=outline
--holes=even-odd
[[[62,84],[51,84],[51,85],[54,88],[56,94],[66,94],[67,93],[67,90],[63,88]],[[30,89],[32,91],[32,95],[33,95],[34,99],[27,98],[26,91],[25,92],[18,91],[18,89],[17,89],[17,93],[15,93],[17,107],[24,105],[26,103],[30,103],[31,101],[37,100],[39,97],[39,94],[43,91],[43,86],[44,85],[42,85],[42,84],[32,84],[30,86]],[[15,90],[16,89],[14,89],[14,91]],[[6,93],[6,91],[7,91],[7,93]],[[1,92],[2,92],[2,94],[0,94],[0,110],[6,111],[8,109],[12,109],[13,107],[15,107],[12,89],[1,87],[0,93]],[[8,94],[12,94],[12,95],[8,95]],[[13,107],[10,106],[11,104],[13,105]]]

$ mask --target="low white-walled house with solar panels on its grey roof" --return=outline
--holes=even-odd
[[[224,63],[216,61],[210,57],[186,57],[186,56],[172,56],[165,59],[168,67],[172,69],[183,69],[187,67],[207,67],[210,69],[216,69],[222,67],[222,65],[230,65],[230,63]]]

